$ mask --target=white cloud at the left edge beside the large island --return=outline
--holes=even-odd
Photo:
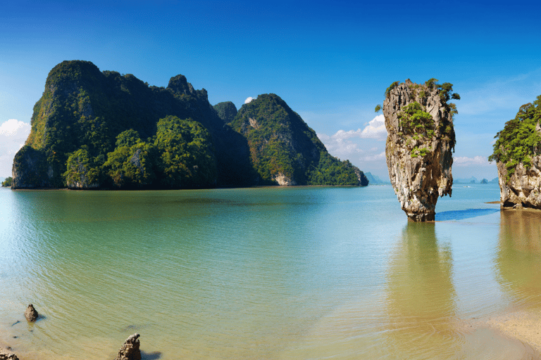
[[[23,147],[30,134],[27,122],[10,119],[0,124],[0,176],[11,176],[15,153]]]

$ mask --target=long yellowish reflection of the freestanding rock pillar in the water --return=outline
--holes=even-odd
[[[452,250],[435,224],[408,222],[387,274],[386,347],[401,358],[455,354]]]

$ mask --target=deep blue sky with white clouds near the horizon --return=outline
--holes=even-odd
[[[455,178],[497,176],[492,141],[541,94],[541,6],[526,1],[13,1],[0,12],[0,176],[49,70],[89,60],[212,104],[275,93],[330,153],[388,178],[373,112],[387,86],[435,77],[456,101]]]

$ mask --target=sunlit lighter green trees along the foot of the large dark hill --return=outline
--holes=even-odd
[[[64,177],[71,188],[198,188],[216,185],[211,136],[199,122],[168,116],[158,121],[156,136],[142,141],[128,129],[100,163],[87,146],[72,153]]]

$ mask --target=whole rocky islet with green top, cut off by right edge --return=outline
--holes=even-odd
[[[522,105],[495,138],[496,161],[502,208],[541,210],[541,96]]]

